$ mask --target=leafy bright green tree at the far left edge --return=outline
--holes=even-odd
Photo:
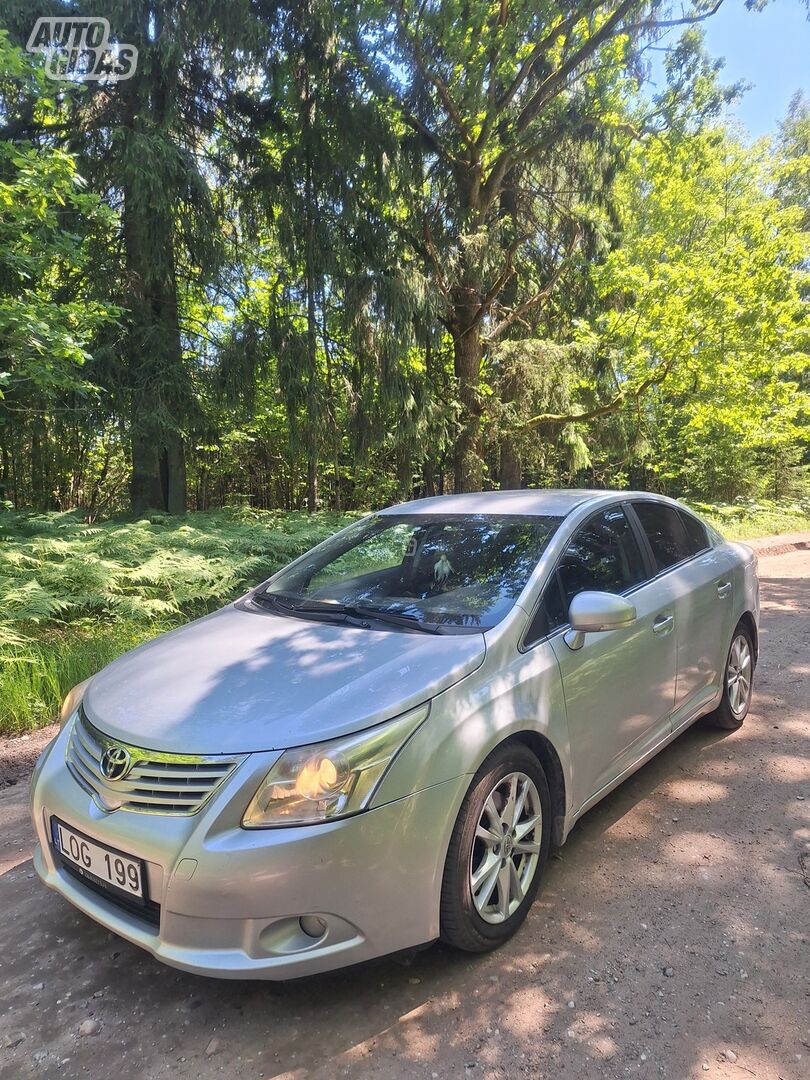
[[[56,87],[3,31],[0,70],[2,119],[23,99],[54,122]],[[15,504],[50,508],[66,494],[50,436],[85,420],[97,400],[91,350],[119,312],[98,299],[95,256],[113,226],[66,150],[0,141],[0,495]]]

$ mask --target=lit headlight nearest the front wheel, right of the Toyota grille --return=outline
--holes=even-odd
[[[362,810],[429,712],[421,705],[367,731],[285,751],[251,799],[242,825],[311,825]]]

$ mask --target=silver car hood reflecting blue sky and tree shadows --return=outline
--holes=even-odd
[[[363,630],[232,604],[113,661],[83,705],[100,731],[150,750],[285,750],[396,716],[485,652],[483,634]]]

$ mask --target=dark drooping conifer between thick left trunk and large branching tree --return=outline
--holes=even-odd
[[[339,504],[345,445],[362,457],[393,432],[402,457],[418,427],[409,351],[433,322],[396,231],[397,140],[364,93],[352,3],[280,9],[244,176],[253,272],[233,332],[251,342],[254,372],[275,367],[310,511],[323,458]],[[247,374],[244,350],[222,359]],[[249,387],[249,375],[241,381]]]

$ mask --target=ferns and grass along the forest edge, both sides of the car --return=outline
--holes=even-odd
[[[810,530],[801,503],[691,503],[724,536]],[[86,525],[0,513],[0,734],[50,723],[67,691],[204,615],[356,514],[224,510]]]

